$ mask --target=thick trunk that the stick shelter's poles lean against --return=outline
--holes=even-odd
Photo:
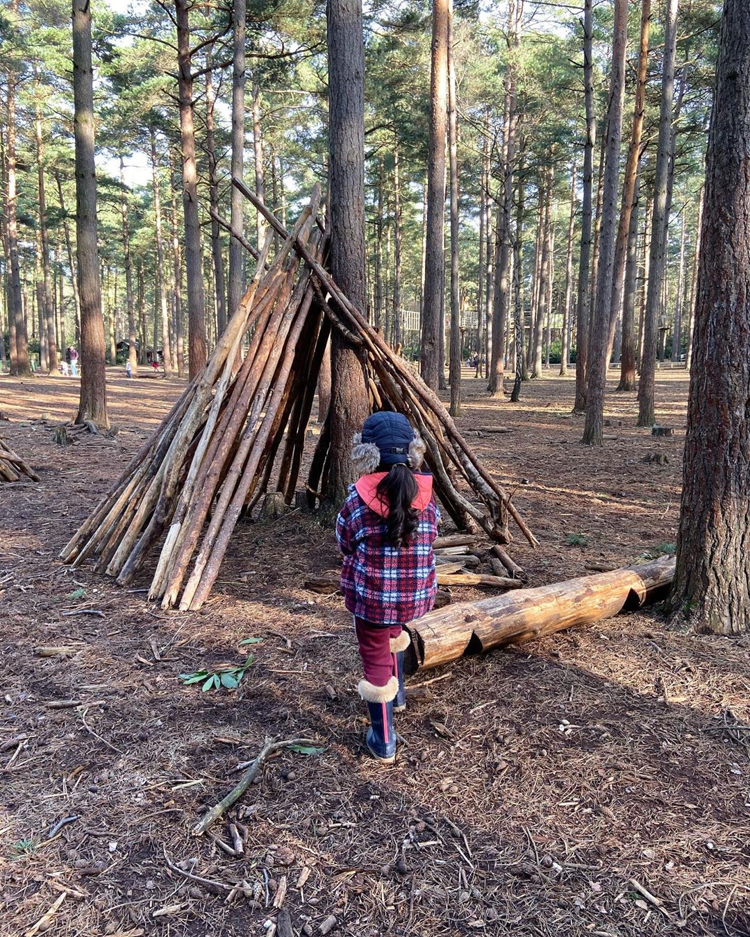
[[[327,0],[331,273],[365,308],[365,44],[362,0]],[[368,415],[365,368],[333,330],[331,465],[327,499],[338,510],[353,481],[353,434]]]

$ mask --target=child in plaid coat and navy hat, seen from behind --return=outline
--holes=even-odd
[[[368,704],[371,754],[385,764],[396,757],[394,710],[406,708],[403,658],[409,634],[401,625],[425,615],[435,602],[432,543],[440,512],[432,476],[417,471],[425,443],[401,413],[373,413],[354,437],[352,461],[361,474],[338,514],[336,536],[344,555],[341,591],[354,617]]]

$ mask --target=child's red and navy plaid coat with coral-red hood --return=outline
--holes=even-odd
[[[438,585],[432,542],[438,535],[440,511],[432,498],[431,476],[416,477],[421,498],[414,503],[421,513],[408,546],[397,549],[388,543],[388,528],[377,510],[379,505],[370,501],[372,507],[368,506],[357,491],[360,483],[350,488],[338,514],[336,537],[344,555],[344,601],[353,615],[372,624],[406,624],[425,615],[435,602]]]

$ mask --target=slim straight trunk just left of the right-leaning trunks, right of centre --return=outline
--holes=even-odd
[[[592,252],[593,147],[596,143],[596,115],[593,101],[593,0],[584,0],[583,86],[586,100],[586,143],[583,149],[583,194],[581,200],[580,259],[576,304],[576,402],[574,412],[586,409],[586,364],[589,356],[591,299],[589,279]]]

